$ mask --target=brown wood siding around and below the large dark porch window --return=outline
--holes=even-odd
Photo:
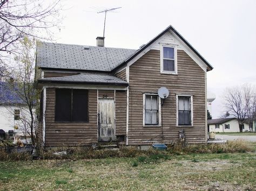
[[[45,146],[78,146],[97,143],[97,90],[89,90],[89,122],[55,122],[55,88],[46,88]]]

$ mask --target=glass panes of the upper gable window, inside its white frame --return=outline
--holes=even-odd
[[[174,72],[174,48],[163,47],[164,58],[163,58],[163,70]]]

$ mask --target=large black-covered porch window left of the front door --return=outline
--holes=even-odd
[[[56,89],[56,122],[88,122],[88,91]]]

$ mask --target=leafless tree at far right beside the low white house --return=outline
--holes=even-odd
[[[225,107],[229,114],[238,119],[240,132],[244,123],[255,113],[255,92],[255,88],[249,84],[227,88],[225,91]]]

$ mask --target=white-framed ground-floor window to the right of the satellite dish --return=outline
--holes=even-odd
[[[190,96],[178,96],[178,123],[179,125],[191,125],[191,99]]]

